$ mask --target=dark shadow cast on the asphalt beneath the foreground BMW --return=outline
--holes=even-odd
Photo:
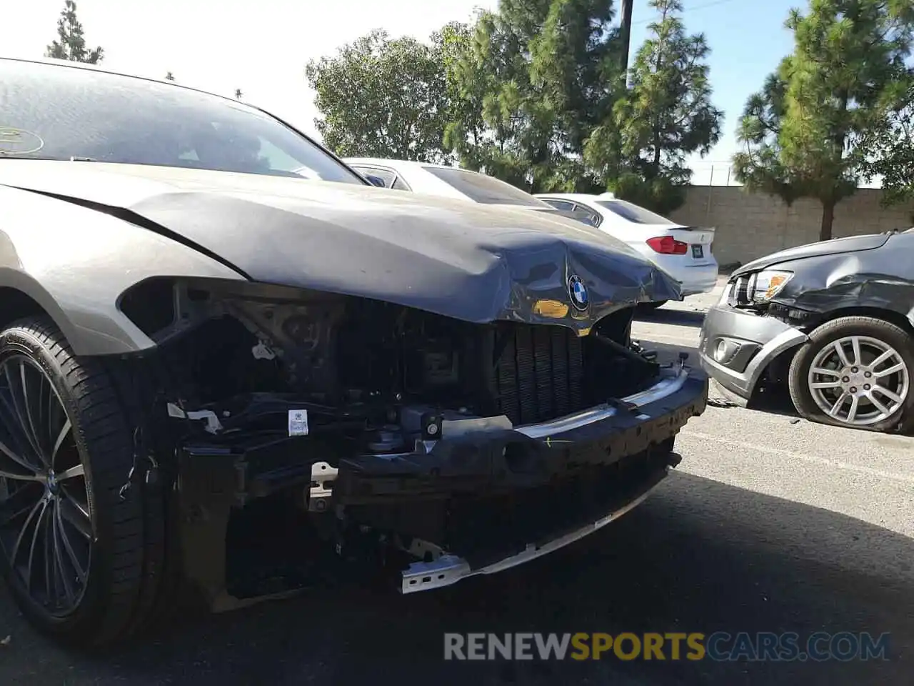
[[[867,559],[820,554],[817,534],[825,531],[867,541]],[[17,620],[0,683],[908,684],[914,590],[910,579],[885,578],[884,563],[901,560],[914,560],[908,537],[675,472],[642,507],[589,539],[437,592],[314,590],[188,622],[104,660],[63,653]],[[12,614],[0,595],[0,616]],[[442,659],[444,632],[519,631],[795,631],[802,638],[868,631],[891,638],[888,661],[878,662]]]

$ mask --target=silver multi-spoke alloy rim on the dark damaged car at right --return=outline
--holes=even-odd
[[[908,365],[898,350],[868,336],[845,336],[813,358],[809,390],[822,411],[839,422],[868,426],[886,420],[908,397]]]

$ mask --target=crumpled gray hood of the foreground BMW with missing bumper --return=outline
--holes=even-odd
[[[672,276],[622,241],[547,213],[386,188],[156,166],[17,161],[0,165],[0,183],[129,210],[254,281],[365,296],[467,321],[551,321],[585,329],[621,306],[681,299]],[[573,302],[575,276],[587,289],[586,308]]]

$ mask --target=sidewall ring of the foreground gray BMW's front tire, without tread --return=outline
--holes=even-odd
[[[111,522],[104,517],[107,508],[99,507],[98,497],[93,488],[92,469],[90,464],[90,451],[86,445],[85,437],[81,430],[80,410],[74,401],[73,392],[66,381],[63,370],[60,369],[58,360],[38,338],[25,328],[11,327],[0,332],[0,360],[11,355],[23,355],[44,370],[51,381],[54,390],[62,402],[69,418],[72,433],[80,454],[80,461],[85,470],[87,494],[89,498],[90,519],[94,540],[90,545],[89,575],[85,593],[80,599],[77,608],[66,616],[51,616],[30,595],[19,577],[9,569],[5,557],[0,557],[3,575],[7,580],[12,594],[16,597],[18,606],[23,614],[39,628],[44,629],[60,638],[71,636],[77,638],[80,627],[90,626],[98,620],[104,611],[104,591],[111,585],[111,570],[106,569],[105,561],[111,560],[107,552],[106,535],[111,531]]]

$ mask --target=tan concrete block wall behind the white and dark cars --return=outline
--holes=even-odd
[[[878,233],[914,226],[914,202],[883,208],[882,191],[860,188],[834,209],[834,238]],[[693,186],[685,204],[670,219],[692,226],[715,227],[717,262],[747,263],[794,245],[819,240],[822,206],[802,198],[791,207],[763,193],[747,193],[741,186]]]

